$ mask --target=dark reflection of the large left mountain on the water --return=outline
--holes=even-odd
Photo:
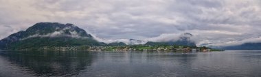
[[[73,76],[91,65],[86,51],[1,51],[10,64],[29,69],[32,76]]]

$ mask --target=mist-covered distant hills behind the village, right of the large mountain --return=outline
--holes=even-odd
[[[118,39],[118,40],[106,40],[100,39],[99,37],[93,36],[95,40],[99,42],[105,42],[107,44],[113,43],[124,43],[126,45],[184,45],[184,46],[196,46],[194,40],[192,40],[193,35],[191,33],[178,33],[175,35],[160,35],[158,37],[151,37],[146,40],[135,40],[135,39]]]

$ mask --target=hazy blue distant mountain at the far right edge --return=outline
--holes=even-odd
[[[221,47],[226,50],[261,50],[261,43],[245,43],[237,46]]]

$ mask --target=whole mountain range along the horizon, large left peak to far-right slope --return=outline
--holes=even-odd
[[[130,39],[128,42],[112,42],[105,44],[98,42],[92,35],[72,24],[60,24],[58,22],[38,22],[25,31],[13,33],[0,40],[0,49],[26,49],[41,48],[44,46],[126,46],[144,44],[156,45],[183,45],[196,46],[191,41],[191,33],[183,33],[178,40],[167,42],[146,42]],[[238,46],[226,46],[223,49],[261,49],[261,43],[246,43]]]

